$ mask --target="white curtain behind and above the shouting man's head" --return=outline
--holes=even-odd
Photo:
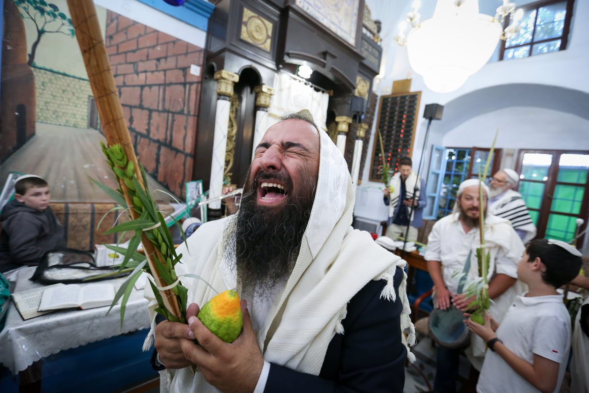
[[[285,113],[307,109],[313,115],[317,127],[327,130],[327,104],[329,95],[306,85],[304,82],[279,72],[274,77],[274,95],[268,108],[267,126],[276,123]]]

